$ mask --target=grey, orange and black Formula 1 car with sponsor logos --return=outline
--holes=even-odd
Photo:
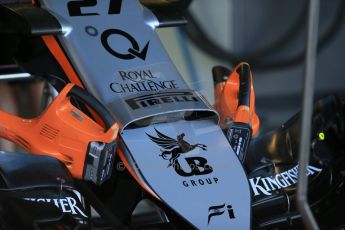
[[[4,229],[300,228],[300,115],[259,132],[247,63],[213,71],[215,105],[189,89],[155,29],[173,3],[34,0],[0,6],[1,49],[59,95],[35,119],[0,112]],[[315,104],[309,198],[343,225],[344,101]],[[142,217],[142,200],[154,207]]]

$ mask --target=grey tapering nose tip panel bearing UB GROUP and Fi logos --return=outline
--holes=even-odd
[[[172,139],[184,133],[183,139],[187,143],[207,146],[206,150],[196,147],[177,158],[187,176],[179,175],[173,166],[168,167],[169,154],[167,159],[160,156],[168,151],[168,147],[174,147],[166,146],[165,149],[152,141],[148,135],[159,138],[156,130]],[[146,185],[191,224],[199,229],[250,229],[247,177],[222,131],[212,121],[177,121],[124,130],[122,138],[130,152],[127,157],[137,165]],[[160,139],[164,138],[161,136]],[[212,172],[193,175],[188,161],[196,160],[196,168],[202,174],[205,168],[200,167],[203,161],[200,158],[207,161]],[[209,210],[214,206],[221,207]],[[232,206],[235,218],[229,217],[229,206]],[[211,216],[208,223],[209,215],[223,211],[223,214]]]

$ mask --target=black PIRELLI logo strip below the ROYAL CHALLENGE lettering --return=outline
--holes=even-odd
[[[155,105],[176,104],[176,103],[199,102],[193,92],[162,92],[147,94],[126,100],[126,103],[133,110],[151,107]]]

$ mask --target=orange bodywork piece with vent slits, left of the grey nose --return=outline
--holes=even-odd
[[[35,119],[23,119],[0,110],[0,136],[30,153],[61,160],[74,177],[81,179],[88,144],[114,141],[118,125],[105,132],[102,126],[74,107],[67,96],[73,86],[68,84]]]

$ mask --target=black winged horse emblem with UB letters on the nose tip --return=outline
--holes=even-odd
[[[207,146],[204,144],[190,144],[184,140],[185,134],[179,134],[176,139],[171,138],[157,129],[155,129],[156,135],[152,136],[148,133],[146,135],[164,150],[161,150],[159,155],[164,160],[169,160],[168,168],[173,166],[176,173],[180,176],[188,177],[195,175],[205,175],[213,171],[212,167],[207,164],[207,160],[203,157],[185,157],[187,164],[190,167],[190,170],[184,170],[180,163],[179,157],[183,154],[191,152],[196,148],[200,148],[203,151],[207,150]]]

